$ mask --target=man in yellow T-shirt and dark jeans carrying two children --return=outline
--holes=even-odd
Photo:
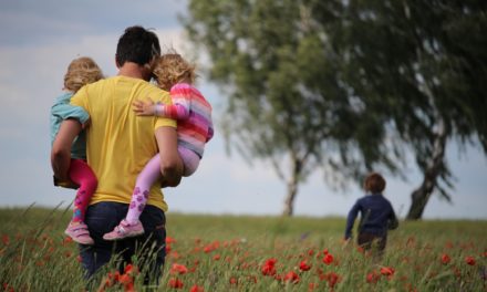
[[[151,63],[160,55],[157,35],[142,27],[127,28],[120,38],[115,61],[118,75],[81,88],[71,104],[90,114],[86,133],[87,163],[99,185],[86,211],[85,223],[93,246],[80,246],[83,268],[91,278],[112,255],[120,257],[120,269],[137,257],[145,282],[156,283],[165,259],[165,211],[160,184],[152,187],[141,222],[143,236],[105,241],[103,234],[124,219],[136,176],[157,153],[165,186],[177,186],[183,166],[177,153],[176,122],[158,117],[137,117],[132,103],[141,98],[170,103],[169,94],[149,84]],[[75,119],[64,121],[53,143],[51,163],[54,176],[69,181],[70,149],[82,129]]]

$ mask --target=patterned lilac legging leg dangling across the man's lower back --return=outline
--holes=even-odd
[[[147,202],[151,187],[160,178],[160,156],[156,154],[144,167],[135,181],[132,194],[131,206],[125,220],[128,223],[136,223]]]

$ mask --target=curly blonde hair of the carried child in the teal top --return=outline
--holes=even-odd
[[[89,56],[81,56],[71,61],[64,75],[64,90],[77,92],[86,84],[103,79],[102,70]]]

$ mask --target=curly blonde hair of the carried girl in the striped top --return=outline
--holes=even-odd
[[[157,85],[169,91],[170,87],[183,81],[193,84],[196,79],[195,70],[196,66],[184,60],[180,54],[167,53],[157,59],[153,74]]]

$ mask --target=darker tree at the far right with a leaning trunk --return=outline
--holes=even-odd
[[[487,10],[485,1],[350,1],[343,52],[366,103],[384,111],[424,174],[407,219],[419,219],[434,190],[450,201],[448,140],[478,137],[486,152]],[[393,98],[391,100],[390,96]]]

